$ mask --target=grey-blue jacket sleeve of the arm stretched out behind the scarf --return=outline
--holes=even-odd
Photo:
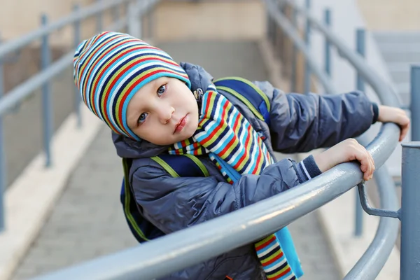
[[[298,153],[334,146],[358,137],[377,119],[376,104],[363,92],[285,94],[268,82],[255,84],[271,101],[269,128],[274,151]]]

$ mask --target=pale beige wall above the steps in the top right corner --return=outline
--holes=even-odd
[[[419,31],[419,0],[357,0],[367,27],[374,31]]]

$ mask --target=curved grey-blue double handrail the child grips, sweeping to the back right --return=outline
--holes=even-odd
[[[316,75],[321,73],[317,76],[318,78],[321,77],[321,83],[323,83],[325,90],[335,92],[329,78],[323,75],[322,71],[316,70],[316,64],[309,56],[307,47],[296,36],[297,31],[287,22],[286,17],[279,12],[274,1],[266,0],[265,3],[267,3],[269,15],[293,39],[296,47],[306,55],[306,59],[309,59],[311,70],[315,70]],[[325,33],[325,37],[329,38],[330,43],[335,45],[358,71],[360,70],[361,75],[377,90],[384,104],[398,106],[398,99],[386,96],[386,94],[393,94],[393,92],[382,85],[384,83],[381,83],[379,77],[363,60],[354,55],[346,45],[340,43],[337,37],[330,34],[330,31],[323,28],[323,25],[314,18],[311,18],[311,24]],[[399,128],[397,125],[384,124],[381,126],[377,137],[366,146],[367,151],[374,158],[377,168],[384,165],[384,162],[393,152],[398,144],[398,135]],[[377,174],[380,174],[385,182],[380,182],[379,189],[382,207],[395,209],[398,207],[395,189],[392,182],[386,181],[389,179],[389,176],[386,176],[386,169],[382,167],[377,171]],[[59,272],[41,276],[37,279],[153,279],[165,276],[275,232],[295,219],[318,209],[339,197],[339,195],[351,190],[353,186],[363,181],[362,178],[359,165],[352,162],[343,163],[296,188],[244,209],[148,241],[137,248],[130,248],[120,253],[85,262],[82,265],[62,269]],[[396,230],[398,230],[398,221],[381,218],[377,236],[372,242],[374,247],[381,248],[381,250],[377,250],[371,245],[359,261],[363,263],[360,265],[358,263],[355,266],[356,270],[353,272],[356,272],[356,274],[349,274],[354,276],[351,279],[373,279],[372,277],[377,275],[391,251],[390,244],[393,244],[396,239]],[[366,260],[372,255],[376,259]],[[364,269],[367,262],[376,264],[370,274]],[[359,267],[361,268],[359,269]],[[360,275],[363,275],[363,277],[360,278]]]

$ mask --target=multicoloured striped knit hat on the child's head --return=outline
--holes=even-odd
[[[162,76],[186,72],[166,52],[128,34],[106,31],[85,40],[74,54],[74,81],[83,102],[118,133],[140,140],[127,125],[127,105],[141,87]]]

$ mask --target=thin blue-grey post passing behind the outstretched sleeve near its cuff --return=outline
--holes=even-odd
[[[364,29],[357,29],[356,30],[356,50],[357,52],[365,56],[365,30]],[[363,81],[362,76],[360,76],[360,73],[357,74],[357,80],[356,80],[356,87],[357,90],[364,91],[365,90],[365,83]],[[358,191],[356,191],[356,218],[354,220],[354,235],[356,237],[360,237],[363,233],[363,208],[362,204],[360,204],[360,197],[358,195]]]

